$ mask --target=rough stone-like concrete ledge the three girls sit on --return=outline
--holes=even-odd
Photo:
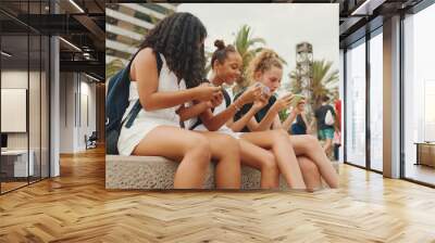
[[[107,189],[172,189],[178,163],[159,156],[105,156]],[[338,164],[334,167],[338,171]],[[248,166],[241,166],[241,189],[260,189],[261,174]],[[214,164],[210,163],[204,189],[214,189]],[[279,189],[288,189],[281,176]]]

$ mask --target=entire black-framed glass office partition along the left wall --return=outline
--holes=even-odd
[[[23,24],[48,14],[49,0],[7,0],[0,1],[0,8],[10,14],[0,13],[0,186],[4,193],[49,175],[49,38]]]

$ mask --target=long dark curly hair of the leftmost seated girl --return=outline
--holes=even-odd
[[[179,12],[163,18],[152,28],[139,50],[151,48],[162,53],[169,68],[178,78],[184,78],[187,88],[192,88],[206,76],[206,37],[207,29],[198,17]]]

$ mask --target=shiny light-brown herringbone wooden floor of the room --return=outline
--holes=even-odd
[[[102,150],[0,196],[0,242],[435,242],[435,190],[343,165],[314,193],[105,191]]]

